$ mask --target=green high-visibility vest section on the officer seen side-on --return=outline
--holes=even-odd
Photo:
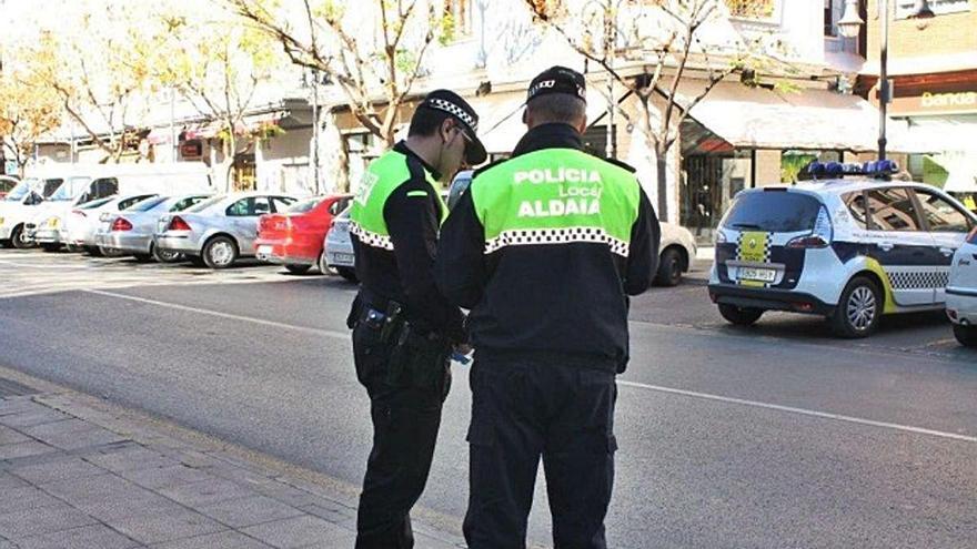
[[[441,221],[447,215],[447,209],[437,192],[437,182],[432,177],[426,167],[424,177],[430,190],[407,191],[407,196],[426,196],[434,194],[441,207]],[[383,218],[383,207],[390,195],[411,179],[411,170],[407,167],[407,156],[399,151],[389,151],[366,166],[353,205],[350,210],[350,231],[355,234],[360,242],[369,246],[393,250],[386,221]]]

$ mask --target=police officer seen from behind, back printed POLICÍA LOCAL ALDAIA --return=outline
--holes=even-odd
[[[442,231],[439,287],[472,309],[471,549],[525,547],[541,458],[554,546],[606,546],[615,375],[658,222],[632,169],[583,151],[585,101],[582,74],[536,77],[528,132],[475,174]]]

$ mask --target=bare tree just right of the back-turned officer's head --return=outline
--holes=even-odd
[[[716,84],[762,62],[759,41],[736,37],[723,44],[704,42],[707,28],[726,17],[719,0],[526,0],[526,4],[538,21],[637,99],[637,121],[633,121],[617,99],[606,98],[641,131],[654,153],[658,215],[668,220],[667,155],[678,128]],[[679,91],[679,84],[692,70],[702,87],[688,94],[687,89]]]

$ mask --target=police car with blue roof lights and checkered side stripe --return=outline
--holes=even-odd
[[[709,297],[729,323],[823,315],[865,337],[883,314],[941,309],[977,215],[933,186],[888,181],[890,161],[812,163],[816,180],[736,195],[717,231]]]

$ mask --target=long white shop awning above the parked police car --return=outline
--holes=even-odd
[[[687,104],[691,95],[684,98]],[[878,109],[857,95],[827,90],[778,92],[721,83],[692,109],[691,116],[738,149],[870,152],[878,148]],[[931,152],[907,133],[905,122],[889,120],[888,151]]]

